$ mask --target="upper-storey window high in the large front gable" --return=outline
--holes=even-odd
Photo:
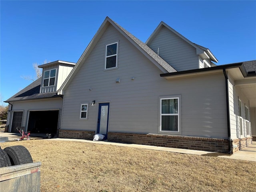
[[[117,42],[106,46],[105,69],[117,68]]]

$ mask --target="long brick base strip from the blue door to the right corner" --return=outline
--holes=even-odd
[[[228,153],[226,139],[108,132],[108,141]]]

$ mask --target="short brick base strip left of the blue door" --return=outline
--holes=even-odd
[[[59,130],[59,138],[73,138],[73,139],[88,139],[92,140],[94,131],[83,131],[83,130]]]

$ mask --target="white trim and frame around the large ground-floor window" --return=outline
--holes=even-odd
[[[168,114],[168,115],[177,115],[178,116],[178,131],[162,130],[162,100],[166,100],[166,99],[178,99],[178,114]],[[181,135],[181,95],[160,96],[159,97],[159,130],[158,130],[158,133]]]

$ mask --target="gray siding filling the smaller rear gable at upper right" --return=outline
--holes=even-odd
[[[165,26],[162,26],[148,46],[156,53],[159,48],[159,56],[177,71],[197,69],[199,67],[196,48]]]

